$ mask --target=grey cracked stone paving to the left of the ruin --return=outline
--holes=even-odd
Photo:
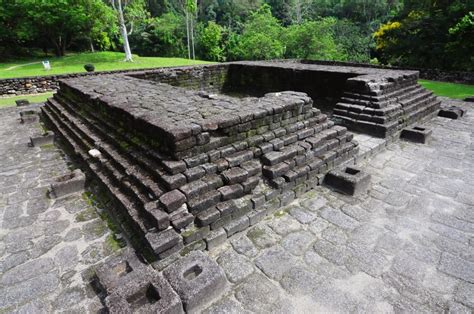
[[[27,146],[42,130],[20,124],[18,112],[0,110],[0,312],[100,309],[82,272],[112,253],[110,231],[81,194],[46,196],[52,178],[70,168],[55,146]],[[100,252],[94,259],[84,254],[91,248]]]

